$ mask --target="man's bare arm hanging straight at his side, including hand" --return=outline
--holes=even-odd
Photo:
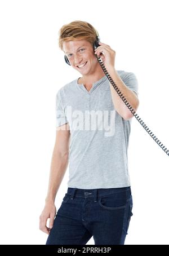
[[[50,229],[53,226],[56,214],[55,197],[69,164],[69,138],[70,130],[68,123],[56,128],[56,140],[54,151],[52,153],[45,208],[39,217],[39,229],[47,234],[49,234]],[[50,218],[49,228],[46,226],[48,218]]]

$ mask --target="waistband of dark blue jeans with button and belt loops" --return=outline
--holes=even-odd
[[[79,197],[94,197],[94,202],[97,202],[97,197],[111,195],[113,193],[120,193],[126,191],[128,195],[131,195],[131,187],[122,187],[122,188],[95,188],[95,189],[81,189],[81,188],[70,188],[68,187],[67,193],[71,199],[74,196]]]

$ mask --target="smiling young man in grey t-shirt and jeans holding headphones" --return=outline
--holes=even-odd
[[[132,113],[119,97],[96,56],[134,111],[137,78],[115,70],[115,51],[103,42],[94,51],[97,30],[85,21],[60,29],[59,46],[81,77],[56,94],[56,142],[39,228],[46,244],[124,244],[132,215],[127,148]],[[69,164],[68,191],[57,210],[55,197]],[[46,226],[50,218],[50,227]]]

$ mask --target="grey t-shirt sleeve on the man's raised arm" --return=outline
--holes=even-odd
[[[125,72],[123,81],[130,90],[134,91],[137,96],[139,95],[137,77],[133,72]]]

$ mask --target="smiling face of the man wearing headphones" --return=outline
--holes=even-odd
[[[88,75],[94,72],[98,61],[90,42],[85,39],[63,42],[63,50],[72,67],[82,75]],[[81,67],[81,64],[84,63],[86,64]]]

